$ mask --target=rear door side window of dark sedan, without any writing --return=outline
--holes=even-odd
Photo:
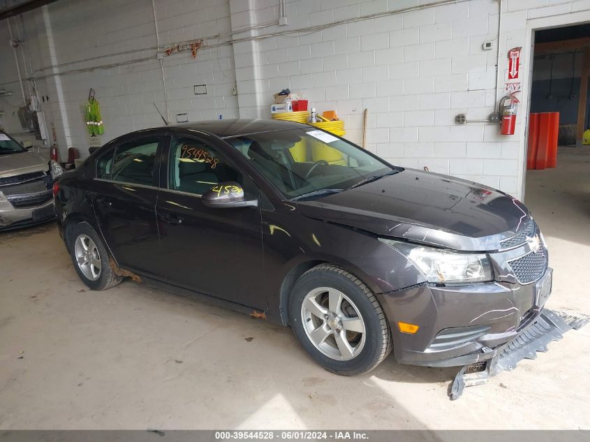
[[[154,164],[158,138],[145,138],[140,141],[126,142],[117,146],[112,159],[98,160],[97,176],[101,173],[112,181],[133,184],[154,184]]]

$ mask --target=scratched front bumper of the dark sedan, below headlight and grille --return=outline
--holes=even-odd
[[[551,286],[552,269],[547,268],[538,281],[524,285],[422,284],[381,295],[392,327],[406,318],[420,325],[415,334],[394,334],[395,358],[428,367],[461,367],[494,358],[498,348],[537,320]]]

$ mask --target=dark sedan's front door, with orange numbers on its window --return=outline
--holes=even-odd
[[[169,283],[265,310],[260,207],[202,204],[203,193],[230,181],[242,184],[247,199],[259,197],[251,179],[221,154],[223,145],[217,143],[205,135],[172,137],[168,189],[161,189],[156,207],[159,259]]]

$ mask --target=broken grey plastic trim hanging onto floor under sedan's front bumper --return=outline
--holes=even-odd
[[[588,322],[588,318],[544,309],[534,323],[499,348],[493,358],[460,369],[450,385],[450,399],[459,399],[465,387],[487,383],[489,378],[496,376],[500,371],[515,369],[517,363],[523,359],[536,359],[537,352],[547,351],[547,344],[551,341],[559,341],[565,332],[572,329],[580,330]],[[490,352],[491,348],[482,348],[482,353]]]

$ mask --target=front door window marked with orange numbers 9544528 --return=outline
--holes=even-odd
[[[172,137],[170,142],[170,189],[202,195],[213,186],[235,181],[242,174],[228,165],[216,149],[195,138]]]

